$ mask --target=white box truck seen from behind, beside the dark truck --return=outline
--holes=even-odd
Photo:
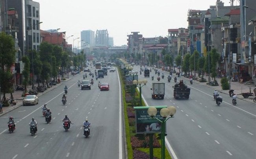
[[[153,82],[152,83],[152,98],[163,99],[165,96],[165,83],[163,82]]]

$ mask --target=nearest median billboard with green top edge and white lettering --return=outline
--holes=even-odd
[[[163,120],[163,117],[160,115],[161,108],[167,108],[167,106],[154,106],[156,107],[157,114],[156,118]],[[152,118],[148,115],[149,107],[134,107],[135,109],[135,125],[136,125],[136,134],[155,134],[161,133],[161,122],[155,118]],[[166,123],[165,123],[166,124]]]

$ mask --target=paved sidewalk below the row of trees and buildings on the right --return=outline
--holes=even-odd
[[[176,70],[177,71],[177,70]],[[194,75],[194,72],[193,72],[193,75]],[[207,80],[207,82],[199,82],[198,81],[198,74],[196,73],[196,76],[197,76],[197,80],[194,82],[197,82],[197,83],[200,83],[201,85],[204,85],[206,87],[209,87],[209,88],[212,88],[212,89],[216,89],[218,92],[221,92],[221,93],[224,93],[224,94],[228,94],[229,95],[229,90],[223,90],[222,87],[221,87],[221,78],[215,78],[219,84],[219,86],[210,86],[210,85],[207,85],[206,83],[208,82],[208,76],[204,76],[204,78]],[[189,78],[186,78],[186,77],[183,77],[181,76],[182,78],[184,79],[189,79]],[[212,78],[211,78],[211,81]],[[246,92],[253,92],[253,89],[254,89],[254,85],[245,85],[245,83],[239,83],[239,82],[230,82],[230,89],[234,89],[234,93],[237,95],[237,98],[239,99],[242,99],[244,101],[248,101],[250,103],[253,103],[256,105],[256,103],[253,101],[253,99],[255,98],[255,96],[250,96],[249,98],[244,98],[242,96],[242,93],[246,93]]]

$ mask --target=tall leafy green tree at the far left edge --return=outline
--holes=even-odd
[[[15,47],[13,37],[6,33],[0,33],[0,78],[3,105],[6,106],[6,93],[12,92],[11,66],[15,62]]]

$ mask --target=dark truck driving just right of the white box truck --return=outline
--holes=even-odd
[[[173,96],[175,99],[184,98],[189,99],[190,88],[187,88],[185,84],[175,84],[173,90]]]

